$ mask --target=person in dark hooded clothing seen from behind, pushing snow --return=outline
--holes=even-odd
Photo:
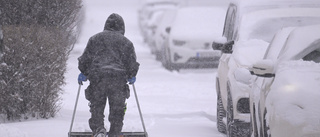
[[[122,17],[111,14],[100,32],[89,39],[86,49],[78,58],[79,84],[87,79],[85,90],[90,102],[89,126],[94,137],[105,137],[104,109],[109,99],[110,129],[108,137],[119,136],[123,127],[126,99],[130,96],[129,84],[133,84],[139,69],[132,42],[124,36]]]

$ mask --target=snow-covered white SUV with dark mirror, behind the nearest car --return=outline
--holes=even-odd
[[[285,0],[284,0],[285,1]],[[225,21],[217,88],[217,128],[228,136],[250,134],[250,81],[246,69],[263,58],[274,34],[283,27],[318,24],[319,1],[242,1],[231,3]],[[226,120],[224,120],[226,118]]]

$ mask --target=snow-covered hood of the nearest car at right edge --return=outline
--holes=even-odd
[[[279,64],[266,98],[267,117],[316,128],[320,119],[320,64],[288,61]],[[318,127],[320,128],[320,127]]]

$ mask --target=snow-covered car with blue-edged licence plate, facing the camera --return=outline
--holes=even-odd
[[[188,6],[177,9],[168,39],[162,47],[163,65],[168,69],[214,67],[221,56],[211,41],[222,33],[225,9]]]

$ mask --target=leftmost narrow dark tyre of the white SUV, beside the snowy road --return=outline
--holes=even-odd
[[[226,124],[223,122],[223,118],[226,117],[226,111],[223,108],[218,80],[216,83],[217,83],[216,87],[217,87],[217,93],[218,93],[217,95],[217,128],[219,132],[226,134],[227,133]]]

